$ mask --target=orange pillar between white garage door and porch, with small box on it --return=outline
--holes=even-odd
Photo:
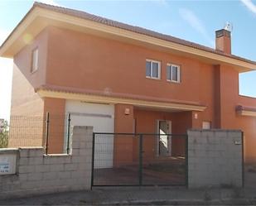
[[[133,133],[133,105],[115,104],[114,132]],[[133,136],[115,135],[114,166],[127,165],[133,162]]]

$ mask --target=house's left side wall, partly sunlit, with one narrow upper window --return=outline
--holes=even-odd
[[[35,88],[46,78],[47,37],[46,31],[41,32],[14,56],[9,147],[42,145],[44,101]],[[31,50],[36,47],[40,69],[31,74]]]

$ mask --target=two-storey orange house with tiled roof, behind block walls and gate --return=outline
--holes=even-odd
[[[225,29],[216,31],[211,49],[36,2],[0,55],[14,60],[12,116],[49,112],[63,123],[71,113],[72,125],[94,126],[94,132],[241,129],[245,160],[256,160],[256,99],[239,95],[239,73],[256,69],[256,62],[231,54]],[[39,134],[38,144],[44,144],[44,132]],[[51,137],[51,152],[63,151],[64,137]],[[126,151],[123,158],[136,155],[133,143],[125,139],[118,146]],[[166,143],[170,155],[183,152],[184,141]],[[161,155],[159,144],[147,141],[145,156]]]

